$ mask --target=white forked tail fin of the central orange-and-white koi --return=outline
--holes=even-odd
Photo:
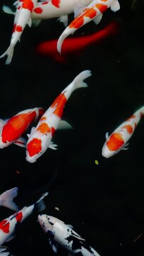
[[[72,81],[72,84],[74,85],[74,90],[81,88],[81,87],[87,87],[87,83],[84,82],[84,79],[89,78],[91,76],[91,70],[84,70],[79,75],[77,75],[76,78]]]

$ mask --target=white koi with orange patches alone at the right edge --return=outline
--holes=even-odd
[[[123,122],[114,132],[109,136],[106,132],[106,142],[102,148],[102,156],[109,158],[117,154],[121,150],[127,150],[128,140],[133,135],[138,122],[144,114],[144,107],[137,110],[130,118]]]

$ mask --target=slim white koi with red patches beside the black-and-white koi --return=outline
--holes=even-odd
[[[43,196],[41,196],[36,203],[33,203],[33,205],[23,207],[23,209],[19,210],[17,213],[0,222],[0,246],[3,245],[4,242],[9,242],[13,239],[13,233],[18,228],[18,225],[21,224],[23,220],[25,220],[35,210],[42,211],[45,209],[43,198],[47,195],[48,192],[43,194]]]

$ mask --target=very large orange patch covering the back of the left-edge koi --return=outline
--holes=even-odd
[[[35,111],[26,114],[17,114],[6,122],[1,132],[2,142],[13,142],[26,131],[28,125],[35,119]]]

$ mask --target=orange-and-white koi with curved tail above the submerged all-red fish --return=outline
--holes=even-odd
[[[89,4],[86,9],[82,11],[82,14],[79,14],[70,25],[65,28],[65,31],[62,32],[60,38],[57,41],[57,50],[61,53],[62,43],[70,36],[70,34],[77,31],[77,29],[81,28],[85,24],[90,21],[94,21],[94,23],[98,24],[101,21],[102,14],[107,9],[111,8],[112,11],[118,11],[120,9],[120,5],[118,0],[94,0],[91,4]]]

